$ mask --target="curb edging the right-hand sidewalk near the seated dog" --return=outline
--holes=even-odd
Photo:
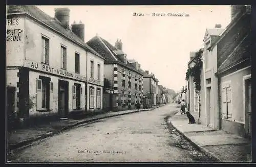
[[[170,121],[170,123],[172,124],[172,122]],[[214,160],[216,162],[221,162],[222,160],[219,159],[217,156],[215,156],[215,154],[211,153],[210,151],[208,151],[207,149],[203,148],[202,146],[199,146],[198,144],[196,144],[196,142],[192,141],[189,137],[187,137],[184,133],[182,133],[180,130],[178,130],[173,124],[172,126],[177,130],[177,132],[179,132],[187,141],[190,142],[191,145],[193,145],[195,148],[197,148],[199,151],[203,152],[207,157],[209,157],[211,160]]]

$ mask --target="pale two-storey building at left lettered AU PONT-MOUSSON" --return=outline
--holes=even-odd
[[[68,8],[55,9],[52,18],[35,6],[9,6],[7,103],[14,106],[8,108],[9,113],[67,117],[72,111],[102,109],[104,59],[83,42],[83,29],[72,27],[73,31]],[[102,64],[96,80],[87,80],[87,57]],[[100,100],[94,97],[94,102],[101,103],[97,108],[87,103],[87,81],[95,92],[100,89]]]

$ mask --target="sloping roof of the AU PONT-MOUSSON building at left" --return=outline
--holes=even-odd
[[[45,12],[41,11],[36,6],[32,5],[10,5],[8,14],[19,14],[19,13],[26,13],[31,17],[35,18],[39,22],[45,24],[49,28],[57,31],[62,36],[72,40],[76,44],[81,45],[84,49],[89,50],[90,52],[94,53],[98,57],[104,59],[99,53],[93,50],[90,46],[88,46],[82,39],[76,36],[72,31],[65,29],[61,26],[61,23],[56,18],[53,18],[46,14]]]

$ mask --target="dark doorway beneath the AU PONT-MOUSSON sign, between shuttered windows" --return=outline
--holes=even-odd
[[[61,118],[66,118],[69,112],[69,82],[58,81],[58,113]]]

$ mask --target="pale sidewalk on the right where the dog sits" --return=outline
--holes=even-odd
[[[188,124],[186,114],[178,112],[169,120],[187,139],[210,158],[220,162],[251,162],[251,141],[214,130],[201,124]]]

